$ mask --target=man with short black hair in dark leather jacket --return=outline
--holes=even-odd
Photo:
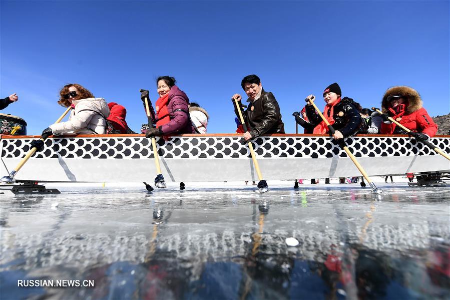
[[[256,75],[248,75],[242,79],[241,86],[248,96],[249,105],[243,116],[249,131],[244,133],[245,140],[258,137],[262,134],[284,133],[284,124],[281,121],[280,107],[271,92],[265,92],[261,80]],[[242,100],[241,95],[234,94],[232,101]],[[239,113],[234,107],[239,118]]]

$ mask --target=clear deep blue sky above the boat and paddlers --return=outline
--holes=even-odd
[[[79,83],[127,108],[139,131],[140,88],[157,99],[170,75],[210,114],[209,133],[234,132],[234,93],[257,74],[278,100],[286,133],[309,94],[338,82],[379,106],[394,85],[415,88],[431,116],[450,111],[448,1],[0,1],[2,113],[40,134],[64,112],[59,90]],[[245,98],[246,99],[246,98]],[[323,108],[324,102],[317,102]]]

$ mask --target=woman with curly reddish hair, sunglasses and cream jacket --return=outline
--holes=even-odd
[[[110,114],[108,104],[103,98],[95,98],[83,86],[73,83],[65,85],[60,91],[58,103],[73,108],[69,121],[52,124],[42,134],[104,134],[106,118]]]

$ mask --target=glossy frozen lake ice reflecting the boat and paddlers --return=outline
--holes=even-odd
[[[0,196],[1,298],[450,297],[448,188],[215,184]]]

